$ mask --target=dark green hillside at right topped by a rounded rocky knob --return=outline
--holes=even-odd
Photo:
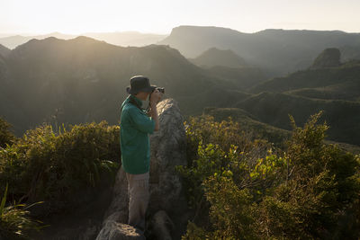
[[[255,94],[236,106],[282,129],[290,129],[288,114],[302,125],[324,111],[329,139],[360,145],[360,60],[339,59],[338,49],[325,49],[308,69],[249,88]]]

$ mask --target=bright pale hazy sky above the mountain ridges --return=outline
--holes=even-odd
[[[140,31],[180,25],[360,32],[360,0],[0,0],[0,36]]]

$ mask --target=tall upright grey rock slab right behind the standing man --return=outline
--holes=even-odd
[[[174,218],[186,210],[182,182],[175,165],[186,165],[184,119],[173,99],[157,104],[160,130],[150,137],[150,201],[148,211],[153,216],[163,209]]]

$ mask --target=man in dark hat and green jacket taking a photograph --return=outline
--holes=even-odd
[[[133,76],[130,94],[121,105],[121,165],[128,180],[129,221],[128,224],[145,231],[145,213],[148,208],[148,178],[150,163],[150,142],[148,134],[159,129],[157,102],[161,94],[156,86],[150,85],[148,77]],[[150,111],[142,110],[142,101],[149,98]],[[151,117],[151,118],[149,118]]]

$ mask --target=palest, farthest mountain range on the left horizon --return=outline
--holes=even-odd
[[[60,32],[52,32],[49,34],[43,35],[34,35],[34,36],[6,36],[0,38],[0,44],[4,45],[4,47],[8,49],[14,49],[23,43],[36,39],[43,40],[49,37],[55,37],[61,40],[69,40],[74,39],[78,36],[90,37],[95,40],[104,40],[107,43],[119,45],[119,46],[135,46],[141,47],[150,44],[157,43],[159,40],[163,40],[166,35],[161,34],[152,34],[152,33],[140,33],[138,31],[122,31],[122,32],[87,32],[80,35],[71,35],[71,34],[63,34]]]

